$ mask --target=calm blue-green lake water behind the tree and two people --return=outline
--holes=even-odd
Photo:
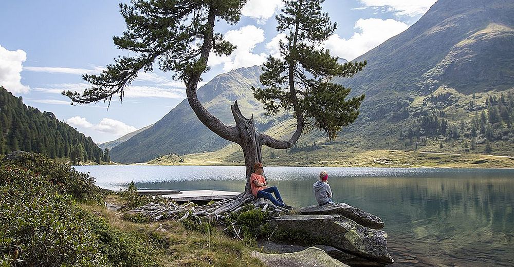
[[[131,180],[145,189],[242,192],[244,167],[76,166],[108,189]],[[325,169],[335,202],[382,218],[391,266],[514,266],[514,170],[266,167],[286,203],[316,203],[312,184]]]

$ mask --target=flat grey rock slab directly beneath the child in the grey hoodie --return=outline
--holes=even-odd
[[[371,213],[361,211],[356,207],[352,207],[346,203],[334,203],[334,204],[326,204],[323,206],[308,206],[301,208],[298,211],[298,214],[304,215],[329,215],[329,214],[337,214],[342,215],[348,219],[351,219],[358,224],[366,227],[370,227],[373,229],[382,229],[384,227],[384,222],[378,216],[375,216]]]

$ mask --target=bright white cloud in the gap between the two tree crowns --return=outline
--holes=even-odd
[[[230,30],[225,33],[225,40],[237,46],[230,56],[209,56],[209,65],[223,64],[224,71],[230,71],[241,67],[261,65],[266,60],[266,54],[254,54],[253,49],[259,43],[264,42],[264,30],[254,25],[241,27],[238,30]]]

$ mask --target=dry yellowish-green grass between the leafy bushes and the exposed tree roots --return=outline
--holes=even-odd
[[[122,204],[114,195],[106,200]],[[103,206],[82,204],[81,207],[106,219],[118,230],[147,240],[145,242],[156,255],[154,259],[162,266],[264,266],[260,260],[251,257],[253,248],[231,239],[218,228],[213,227],[204,234],[186,230],[176,221],[136,223],[122,220],[119,214]]]

